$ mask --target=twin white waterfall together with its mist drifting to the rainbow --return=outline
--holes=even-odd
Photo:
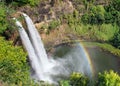
[[[49,83],[57,83],[63,77],[68,77],[72,72],[81,72],[91,75],[90,63],[79,45],[63,58],[48,59],[41,37],[35,28],[30,17],[24,13],[28,33],[22,24],[14,18],[22,43],[28,52],[31,67],[33,69],[32,77],[36,80],[43,80]],[[29,34],[29,35],[28,35]]]

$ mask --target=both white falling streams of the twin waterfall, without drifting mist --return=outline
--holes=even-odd
[[[50,68],[51,64],[48,61],[48,57],[44,49],[44,45],[41,41],[41,37],[39,36],[39,33],[35,28],[32,20],[28,15],[24,13],[23,16],[28,27],[29,36],[23,28],[23,26],[21,25],[21,23],[14,18],[14,20],[16,20],[16,25],[19,28],[18,31],[22,43],[26,51],[28,52],[32,69],[35,72],[35,78],[37,78],[38,80],[46,81],[48,77],[44,76],[44,72],[48,70],[48,67]],[[49,81],[49,79],[47,81]]]

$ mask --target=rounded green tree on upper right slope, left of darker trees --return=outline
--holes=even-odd
[[[84,24],[103,24],[105,22],[105,9],[103,6],[91,6],[81,20]]]

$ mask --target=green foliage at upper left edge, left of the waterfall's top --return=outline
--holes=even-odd
[[[0,2],[0,36],[4,36],[5,31],[10,32],[15,30],[14,22],[11,20],[11,14],[15,12],[10,6]]]

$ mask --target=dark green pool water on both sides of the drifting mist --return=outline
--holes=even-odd
[[[72,44],[72,46],[69,45],[57,46],[55,47],[55,51],[53,52],[53,57],[55,57],[55,59],[63,58],[64,56],[71,54],[71,51],[74,51],[75,48],[77,47],[78,45],[76,44]],[[120,73],[119,57],[114,56],[109,52],[103,51],[101,48],[96,46],[90,46],[90,47],[84,46],[84,49],[91,60],[92,72],[94,76],[96,76],[99,72],[103,72],[105,70],[107,71],[114,70],[115,72]],[[78,50],[77,53],[81,53],[81,50]]]

